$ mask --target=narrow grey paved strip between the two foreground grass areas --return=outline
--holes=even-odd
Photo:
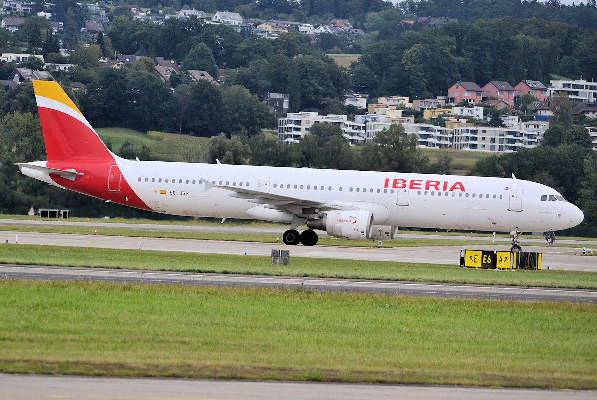
[[[85,279],[113,282],[151,282],[206,286],[245,286],[361,291],[430,297],[460,297],[519,301],[569,301],[597,304],[597,290],[509,287],[427,282],[373,281],[363,279],[305,278],[221,273],[122,270],[103,268],[23,266],[0,264],[0,278]]]

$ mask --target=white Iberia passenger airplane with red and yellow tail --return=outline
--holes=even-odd
[[[112,153],[54,81],[33,81],[47,161],[21,173],[107,202],[189,217],[290,224],[287,245],[392,240],[398,226],[567,229],[583,213],[544,184],[512,178],[139,161]],[[299,233],[298,226],[307,230]],[[512,251],[519,251],[513,243]]]

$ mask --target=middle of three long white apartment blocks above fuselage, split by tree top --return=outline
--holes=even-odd
[[[392,122],[367,122],[367,141],[373,140],[378,132],[387,129]],[[452,130],[428,124],[402,124],[404,136],[414,134],[418,139],[418,147],[424,149],[451,149]]]

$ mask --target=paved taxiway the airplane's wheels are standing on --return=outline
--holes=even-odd
[[[408,263],[460,263],[461,246],[362,248],[343,246],[285,246],[276,243],[229,242],[190,239],[133,238],[128,236],[67,235],[63,233],[0,232],[0,244],[8,241],[20,244],[41,244],[75,247],[128,248],[144,250],[188,251],[193,253],[248,254],[270,256],[272,248],[290,250],[291,257],[317,257],[375,261],[404,261]],[[347,244],[349,242],[346,242]],[[470,250],[509,250],[506,244],[467,246]],[[523,250],[541,251],[543,268],[597,271],[597,256],[583,256],[580,248],[527,247]],[[597,254],[597,248],[595,249]]]

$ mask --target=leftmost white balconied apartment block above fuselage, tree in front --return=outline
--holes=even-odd
[[[340,127],[350,144],[365,141],[364,124],[348,121],[346,115],[319,115],[316,112],[288,113],[285,118],[278,118],[278,140],[284,144],[297,143],[298,139],[309,133],[314,124],[332,124]]]

